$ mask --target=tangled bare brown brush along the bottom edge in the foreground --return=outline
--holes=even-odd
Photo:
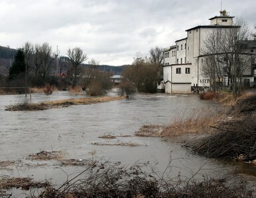
[[[148,163],[123,166],[120,162],[111,163],[100,160],[92,163],[86,170],[67,180],[58,188],[46,187],[39,197],[253,197],[252,189],[246,182],[227,183],[225,179],[208,179],[196,182],[159,176],[144,172]]]

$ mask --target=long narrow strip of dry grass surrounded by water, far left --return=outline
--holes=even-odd
[[[66,100],[54,100],[40,103],[22,102],[7,106],[7,111],[36,111],[36,110],[47,110],[50,108],[68,107],[71,105],[86,105],[86,104],[97,104],[99,102],[110,102],[113,100],[124,99],[124,96],[104,96],[98,98],[72,98]]]

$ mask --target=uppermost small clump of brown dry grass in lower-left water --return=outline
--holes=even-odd
[[[41,152],[37,152],[36,154],[29,154],[27,157],[29,160],[56,160],[62,158],[62,151],[51,151],[47,152],[42,150]]]

